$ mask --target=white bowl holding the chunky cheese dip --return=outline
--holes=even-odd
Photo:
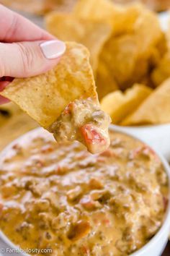
[[[116,127],[111,125],[110,129],[112,129],[113,131],[115,130],[116,132],[124,132],[127,135],[130,135],[130,132],[125,132],[122,127]],[[9,144],[1,153],[0,153],[0,158],[3,157],[4,154],[6,154],[6,152],[8,151],[8,148],[11,147],[13,144],[15,144],[18,140],[20,140],[20,138],[24,139],[25,142],[27,141],[27,136],[32,137],[33,135],[35,135],[36,133],[46,133],[46,131],[42,128],[37,128],[32,130],[31,132],[27,132],[25,135],[23,135],[22,137],[19,137],[17,140],[14,140],[14,142],[12,142],[11,144]],[[130,135],[132,136],[132,135]],[[134,135],[132,137],[135,137]],[[138,137],[135,137],[138,139]],[[166,243],[169,239],[169,231],[170,231],[170,167],[169,167],[169,163],[167,163],[166,159],[164,158],[163,155],[161,155],[161,153],[158,153],[158,150],[155,150],[156,154],[158,155],[158,157],[161,159],[166,174],[169,176],[169,204],[166,210],[166,216],[164,218],[164,223],[161,226],[161,229],[156,233],[155,236],[153,236],[153,238],[145,245],[143,246],[141,249],[139,249],[137,252],[134,252],[132,255],[130,256],[161,256],[161,252],[163,252],[164,247],[166,246]],[[5,253],[6,252],[6,248],[12,248],[12,249],[19,249],[19,247],[17,247],[15,244],[13,244],[8,237],[2,232],[0,231],[0,255],[2,253],[1,256],[4,255],[11,255],[11,253]],[[4,249],[4,251],[3,251]],[[29,256],[26,253],[12,253],[13,256]]]

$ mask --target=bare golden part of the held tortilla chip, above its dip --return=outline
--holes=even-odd
[[[97,98],[89,51],[78,43],[66,47],[57,67],[36,77],[15,79],[1,92],[42,127],[49,127],[75,99]]]

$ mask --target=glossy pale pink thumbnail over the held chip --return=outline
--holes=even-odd
[[[40,44],[45,58],[56,59],[66,51],[66,44],[61,40],[49,40]]]

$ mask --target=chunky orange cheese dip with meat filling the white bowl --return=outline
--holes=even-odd
[[[0,228],[14,244],[51,255],[125,256],[160,229],[168,179],[158,156],[110,132],[104,153],[56,143],[38,129],[0,163]]]

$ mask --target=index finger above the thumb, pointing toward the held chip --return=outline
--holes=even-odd
[[[0,41],[21,42],[55,39],[45,30],[0,4]]]

